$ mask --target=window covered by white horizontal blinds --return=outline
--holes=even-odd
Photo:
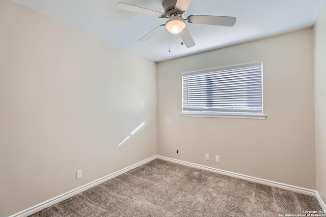
[[[264,118],[262,63],[183,73],[182,114]]]

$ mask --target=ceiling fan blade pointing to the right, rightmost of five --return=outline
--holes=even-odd
[[[236,18],[224,16],[191,15],[187,17],[187,21],[189,23],[197,24],[233,26]]]

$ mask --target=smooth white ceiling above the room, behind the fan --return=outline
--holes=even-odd
[[[178,35],[160,32],[147,42],[138,39],[166,18],[122,11],[118,2],[164,13],[164,0],[12,0],[56,20],[154,61],[199,53],[313,26],[326,0],[193,0],[188,15],[237,18],[232,27],[187,23],[196,45],[186,48]]]

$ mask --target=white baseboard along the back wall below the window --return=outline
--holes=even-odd
[[[163,157],[163,156],[157,156],[157,159],[170,161],[170,162],[185,165],[185,166],[195,167],[195,168],[202,169],[202,170],[208,170],[208,171],[211,171],[211,172],[220,173],[220,174],[223,174],[223,175],[228,175],[228,176],[232,176],[232,177],[235,177],[235,178],[240,178],[240,179],[244,179],[244,180],[248,180],[248,181],[253,181],[253,182],[269,185],[271,187],[276,187],[276,188],[279,188],[279,189],[284,189],[284,190],[288,190],[288,191],[292,191],[292,192],[296,192],[296,193],[300,193],[300,194],[305,194],[305,195],[311,195],[311,196],[316,197],[316,191],[311,190],[311,189],[305,189],[305,188],[296,187],[296,186],[293,186],[293,185],[284,184],[284,183],[280,183],[280,182],[276,182],[276,181],[270,181],[270,180],[256,178],[256,177],[243,175],[243,174],[239,174],[239,173],[229,172],[229,171],[226,171],[226,170],[220,170],[220,169],[216,169],[216,168],[212,168],[212,167],[206,167],[206,166],[203,166],[203,165],[194,164],[194,163],[190,163],[190,162],[186,162],[186,161],[180,161],[180,160],[167,158],[167,157]]]

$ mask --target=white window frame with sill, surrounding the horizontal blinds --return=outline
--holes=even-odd
[[[184,111],[183,110],[183,77],[187,75],[198,75],[212,72],[221,72],[225,70],[241,69],[246,67],[261,66],[261,112],[222,112],[222,111]],[[241,64],[228,67],[219,67],[209,70],[201,70],[194,72],[181,73],[181,112],[183,117],[218,117],[218,118],[240,118],[240,119],[265,119],[267,115],[264,114],[264,97],[263,97],[263,63],[256,62],[251,64]]]

